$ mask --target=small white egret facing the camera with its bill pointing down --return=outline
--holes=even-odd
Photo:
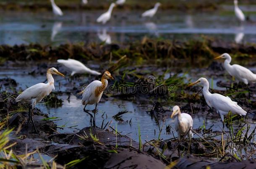
[[[175,130],[178,133],[178,140],[180,141],[180,136],[188,135],[188,139],[193,138],[193,119],[189,114],[181,113],[179,106],[174,106],[172,108],[171,118],[175,118]]]

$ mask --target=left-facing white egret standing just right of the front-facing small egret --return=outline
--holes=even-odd
[[[195,84],[202,84],[203,88],[203,95],[207,105],[210,108],[215,108],[217,113],[219,113],[220,118],[223,123],[224,128],[224,115],[228,114],[231,111],[233,114],[239,114],[245,116],[247,114],[246,111],[243,110],[240,106],[238,106],[237,102],[232,101],[231,98],[228,96],[225,97],[218,93],[210,93],[209,92],[209,82],[206,78],[199,78],[197,81],[188,85],[193,86]]]

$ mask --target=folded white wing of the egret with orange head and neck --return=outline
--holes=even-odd
[[[102,85],[101,81],[93,81],[91,82],[86,88],[84,89],[84,93],[82,95],[82,103],[85,105],[88,101],[91,95],[95,92],[95,89]]]

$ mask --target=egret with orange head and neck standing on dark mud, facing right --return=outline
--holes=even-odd
[[[114,78],[111,76],[111,74],[108,71],[105,71],[101,81],[93,81],[91,82],[86,88],[81,91],[80,93],[83,93],[82,95],[82,104],[84,106],[84,111],[91,116],[93,119],[93,125],[95,127],[95,113],[97,111],[97,105],[99,103],[100,98],[102,97],[103,91],[107,88],[107,79],[112,79]],[[95,104],[95,109],[94,109],[94,117],[87,111],[85,108],[87,104]]]

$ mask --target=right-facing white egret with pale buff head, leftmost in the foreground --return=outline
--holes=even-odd
[[[60,75],[65,77],[62,73],[60,73],[59,71],[57,71],[56,68],[50,68],[47,70],[47,83],[38,83],[34,86],[31,86],[29,88],[27,88],[26,90],[24,90],[20,95],[18,95],[18,97],[16,98],[16,102],[18,101],[24,101],[26,103],[31,103],[31,106],[29,107],[29,119],[28,119],[28,123],[29,120],[31,119],[34,129],[37,132],[36,126],[34,124],[34,120],[32,118],[32,114],[34,111],[34,108],[36,106],[37,103],[39,103],[40,101],[42,101],[42,99],[45,96],[48,96],[52,90],[54,90],[54,79],[52,77],[52,75]]]

